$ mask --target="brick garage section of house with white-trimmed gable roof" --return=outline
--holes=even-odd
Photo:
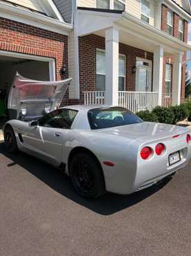
[[[0,1],[1,104],[16,71],[36,80],[68,77],[71,30],[52,0]]]

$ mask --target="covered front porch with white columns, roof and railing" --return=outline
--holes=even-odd
[[[119,105],[137,112],[181,103],[183,53],[190,50],[188,44],[125,12],[79,10],[79,19],[79,80],[85,104]],[[102,60],[97,51],[103,51]],[[172,66],[169,75],[166,63]]]

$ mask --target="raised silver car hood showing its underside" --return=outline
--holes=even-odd
[[[8,109],[17,111],[17,118],[26,120],[43,116],[60,106],[71,80],[36,81],[17,73],[10,89]]]

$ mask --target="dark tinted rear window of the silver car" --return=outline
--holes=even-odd
[[[143,122],[141,118],[123,107],[91,109],[88,111],[88,120],[93,130]]]

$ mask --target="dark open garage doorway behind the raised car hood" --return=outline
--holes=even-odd
[[[50,81],[50,62],[0,55],[0,129],[8,118],[8,95],[17,71],[32,80]]]

